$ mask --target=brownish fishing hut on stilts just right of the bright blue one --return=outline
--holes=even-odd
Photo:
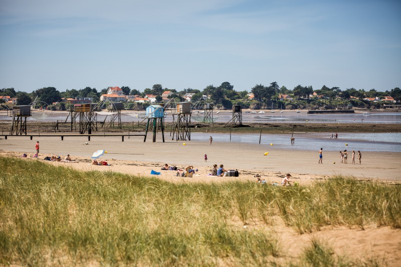
[[[172,113],[172,139],[174,140],[191,140],[191,106],[190,102],[177,103],[176,110]],[[170,133],[171,134],[171,133]]]

